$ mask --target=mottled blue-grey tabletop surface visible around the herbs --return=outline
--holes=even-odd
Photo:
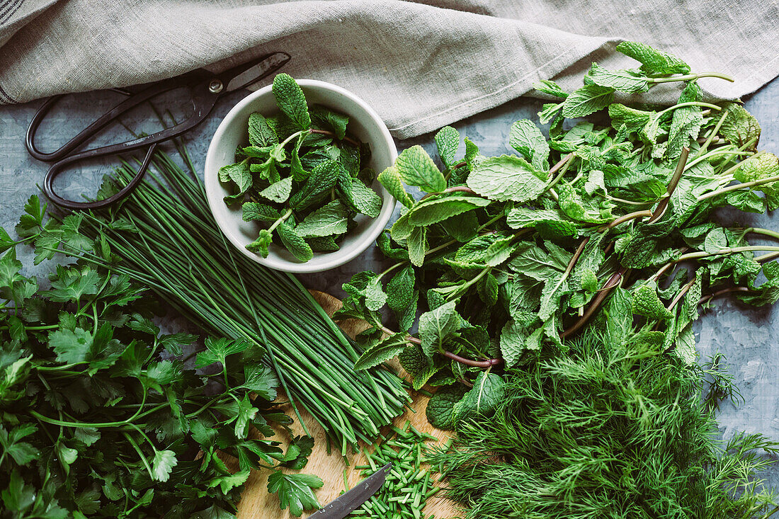
[[[220,101],[212,116],[191,132],[185,139],[199,171],[202,171],[210,136],[221,118],[244,94],[238,92]],[[70,136],[82,129],[95,114],[102,113],[116,101],[118,94],[91,93],[79,94],[62,101],[51,118],[41,128],[39,142],[44,150],[53,150]],[[27,125],[39,102],[0,108],[0,226],[11,234],[23,204],[41,182],[47,169],[45,164],[33,160],[23,144]],[[508,131],[512,122],[520,118],[536,120],[536,112],[541,103],[536,100],[518,99],[483,114],[467,118],[454,125],[463,136],[468,136],[478,144],[485,155],[506,153]],[[171,107],[175,110],[175,106]],[[779,79],[767,85],[747,102],[746,108],[752,112],[763,126],[760,149],[779,153]],[[132,114],[125,118],[125,124],[138,131],[153,130],[154,126],[144,125],[149,113]],[[128,136],[121,127],[107,132],[109,137]],[[432,135],[418,139],[400,141],[398,149],[421,144],[431,153],[435,149]],[[93,193],[97,189],[100,177],[111,171],[110,164],[90,164],[72,171],[58,182],[62,192],[77,195],[79,192]],[[395,215],[397,217],[397,214]],[[779,229],[779,217],[755,214],[723,214],[725,221],[740,218],[741,223],[756,224],[761,227]],[[32,265],[29,249],[20,249],[19,259],[26,265]],[[301,280],[310,288],[330,292],[341,296],[340,284],[351,274],[360,270],[374,268],[381,261],[375,248],[369,249],[356,260],[343,267],[322,274],[301,276]],[[43,277],[51,263],[37,268],[28,268],[27,274]],[[723,404],[719,413],[721,432],[729,437],[738,430],[749,433],[763,433],[779,440],[779,307],[751,309],[727,299],[720,299],[710,312],[697,323],[696,336],[698,348],[703,358],[720,351],[728,358],[728,365],[735,383],[741,389],[743,403],[735,406]],[[779,464],[769,471],[766,477],[774,488],[779,489]]]

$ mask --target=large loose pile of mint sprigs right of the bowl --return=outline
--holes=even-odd
[[[779,207],[779,159],[756,150],[760,125],[740,104],[701,100],[696,79],[721,75],[690,73],[643,44],[618,49],[640,69],[593,64],[570,94],[538,86],[560,99],[539,114],[548,138],[522,120],[509,134],[514,154],[484,157],[466,138],[461,155],[446,127],[435,135],[442,169],[415,146],[379,175],[406,207],[377,242],[393,263],[344,284],[336,317],[372,325],[356,369],[397,355],[415,388],[447,387],[432,402],[435,425],[491,412],[505,394],[500,369],[565,355],[566,338],[587,326],[619,344],[634,321],[648,324],[659,351],[693,365],[701,302],[779,298],[779,246],[746,239],[779,233],[711,217]],[[670,108],[614,100],[674,81]],[[608,125],[566,122],[604,109]]]

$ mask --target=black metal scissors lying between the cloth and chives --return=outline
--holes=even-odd
[[[217,100],[224,94],[251,86],[253,83],[259,81],[259,79],[263,79],[263,77],[276,72],[289,60],[290,55],[287,53],[274,52],[218,74],[208,72],[206,69],[196,69],[192,72],[182,74],[181,76],[153,83],[149,87],[145,87],[143,90],[136,93],[124,89],[113,89],[128,96],[127,99],[117,104],[114,108],[111,108],[111,110],[104,115],[101,115],[100,118],[97,118],[92,124],[79,132],[78,135],[70,139],[58,150],[47,154],[38,150],[35,146],[35,133],[37,132],[38,126],[41,125],[41,122],[48,114],[48,111],[50,111],[51,107],[62,98],[62,95],[48,98],[33,116],[33,120],[30,122],[30,128],[27,129],[25,141],[27,151],[30,152],[30,155],[37,158],[39,161],[54,163],[51,164],[51,168],[49,168],[46,177],[44,178],[44,194],[48,196],[53,203],[60,207],[67,207],[68,209],[100,209],[101,207],[107,207],[112,203],[118,202],[125,198],[125,196],[128,196],[141,181],[143,175],[146,173],[146,169],[149,168],[154,150],[157,149],[157,144],[188,132],[190,129],[203,122],[203,119],[211,113],[214,104],[216,104]],[[256,70],[252,70],[255,68]],[[124,143],[111,144],[110,146],[91,148],[89,150],[74,153],[83,145],[83,143],[92,139],[93,136],[95,136],[97,132],[100,132],[108,123],[125,112],[139,104],[149,101],[152,97],[181,87],[189,88],[190,95],[192,96],[192,108],[194,108],[192,115],[185,121],[179,122],[177,125],[161,130],[160,132],[132,139]],[[148,147],[148,150],[146,151],[146,157],[144,157],[143,163],[138,169],[136,176],[132,178],[128,185],[125,185],[124,188],[113,196],[93,202],[76,202],[74,200],[62,198],[62,196],[59,196],[54,191],[55,178],[57,178],[57,175],[59,175],[69,164],[94,157],[122,154],[143,147]]]

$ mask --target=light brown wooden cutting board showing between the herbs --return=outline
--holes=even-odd
[[[320,305],[326,310],[328,315],[333,315],[337,309],[340,308],[341,302],[332,295],[327,295],[323,292],[312,291],[312,295],[319,302]],[[362,330],[368,327],[365,321],[361,320],[346,320],[339,323],[344,332],[354,337],[355,334],[360,333]],[[400,366],[396,365],[398,369]],[[402,370],[401,370],[402,371]],[[407,410],[404,415],[396,418],[395,425],[402,427],[406,420],[410,420],[411,423],[419,431],[430,433],[433,436],[439,438],[439,443],[444,443],[449,439],[452,434],[448,431],[442,431],[435,429],[430,425],[425,418],[425,408],[427,408],[428,397],[425,395],[414,393],[412,394],[414,401],[411,404],[411,410]],[[283,400],[284,396],[280,396]],[[284,411],[287,415],[294,418],[294,412],[290,406],[286,406]],[[303,410],[301,411],[301,417],[308,427],[308,432],[314,436],[314,450],[310,457],[308,457],[308,465],[306,465],[303,472],[308,474],[318,475],[323,478],[324,485],[321,489],[316,491],[316,497],[319,499],[319,503],[323,506],[326,503],[336,499],[341,491],[344,490],[344,469],[347,469],[347,478],[349,480],[349,487],[352,488],[355,484],[361,481],[362,476],[360,471],[347,468],[344,464],[344,459],[340,456],[340,453],[333,452],[327,454],[327,442],[325,439],[325,432],[322,427],[315,422],[311,415],[308,415]],[[303,429],[295,418],[295,423],[292,425],[296,434],[302,434]],[[350,467],[354,465],[364,463],[364,457],[361,454],[351,454],[349,457]],[[231,464],[228,461],[228,465]],[[233,461],[234,467],[237,468],[237,463]],[[291,519],[292,516],[289,510],[279,509],[279,500],[276,495],[269,494],[266,485],[268,480],[269,471],[252,471],[252,475],[249,476],[249,481],[246,482],[246,489],[241,496],[241,503],[238,504],[238,519],[265,519],[266,517],[279,517],[280,519]],[[455,503],[446,500],[442,497],[442,492],[437,496],[433,496],[428,500],[428,504],[423,510],[425,516],[435,514],[437,519],[445,519],[448,517],[463,517],[464,514],[457,510]],[[303,514],[303,517],[307,517],[308,514]],[[375,519],[379,519],[378,517]]]

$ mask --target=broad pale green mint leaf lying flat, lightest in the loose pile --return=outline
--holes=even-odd
[[[527,202],[544,192],[547,182],[546,174],[524,159],[501,155],[479,161],[467,184],[488,199]]]

